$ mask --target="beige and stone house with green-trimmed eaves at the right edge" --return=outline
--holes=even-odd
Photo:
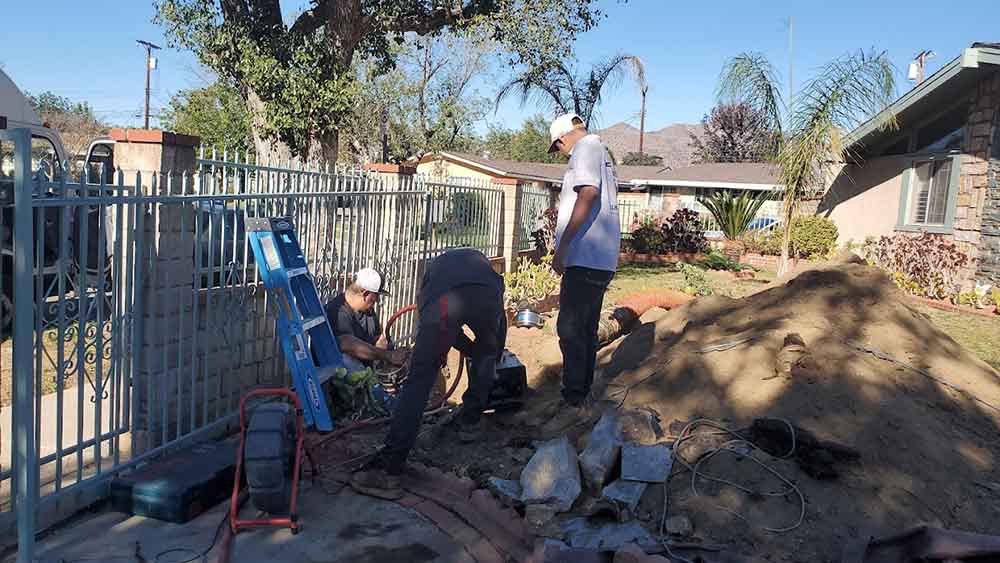
[[[846,162],[818,202],[840,243],[936,233],[1000,283],[1000,44],[976,43],[845,138]],[[898,128],[883,130],[895,114]]]

